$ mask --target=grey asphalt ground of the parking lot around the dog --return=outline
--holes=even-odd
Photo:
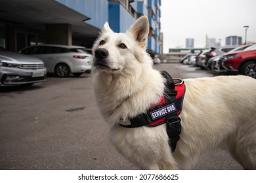
[[[215,76],[180,63],[155,67],[179,78]],[[137,169],[108,142],[90,74],[0,88],[0,103],[0,169]],[[220,149],[202,156],[196,169],[242,167]]]

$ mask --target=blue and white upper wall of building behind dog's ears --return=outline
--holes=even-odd
[[[113,31],[125,32],[135,19],[146,15],[150,22],[150,37],[148,38],[147,49],[149,52],[160,54],[161,44],[161,0],[135,0],[132,3],[128,1],[107,1],[107,0],[55,0],[73,10],[91,18],[85,23],[102,28],[105,22],[110,24]],[[126,2],[126,3],[124,3]],[[130,7],[135,13],[131,13]]]

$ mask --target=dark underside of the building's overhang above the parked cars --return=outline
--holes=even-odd
[[[0,22],[20,29],[45,31],[45,24],[72,24],[75,39],[95,38],[99,29],[86,24],[88,19],[54,0],[0,0]]]

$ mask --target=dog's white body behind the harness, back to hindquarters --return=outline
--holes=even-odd
[[[184,82],[182,133],[175,152],[181,167],[190,167],[184,162],[192,154],[226,143],[245,169],[256,169],[256,80],[217,76]]]

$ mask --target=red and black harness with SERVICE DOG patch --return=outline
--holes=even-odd
[[[182,110],[186,88],[181,79],[172,78],[166,71],[161,71],[161,75],[165,77],[167,82],[165,83],[164,97],[161,97],[160,103],[149,108],[145,113],[129,118],[130,125],[120,125],[133,128],[144,125],[156,127],[166,123],[169,145],[171,146],[171,151],[174,152],[181,134],[181,118],[179,118],[179,114]]]

